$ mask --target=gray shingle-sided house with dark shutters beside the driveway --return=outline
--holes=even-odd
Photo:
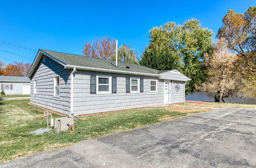
[[[159,71],[135,64],[39,49],[28,72],[31,104],[66,115],[156,106],[185,101],[177,70]]]

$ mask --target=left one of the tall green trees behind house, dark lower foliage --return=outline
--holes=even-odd
[[[180,27],[175,22],[153,27],[150,30],[150,44],[143,51],[139,63],[158,70],[181,70],[180,51],[177,50],[180,38]]]

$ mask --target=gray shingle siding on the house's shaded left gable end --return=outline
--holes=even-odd
[[[70,111],[70,73],[71,70],[46,57],[37,65],[31,77],[30,103],[62,114],[69,115]],[[54,97],[54,76],[60,76],[60,96]],[[37,82],[36,95],[34,94],[34,80]]]

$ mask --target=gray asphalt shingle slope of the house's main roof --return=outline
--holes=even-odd
[[[55,59],[65,63],[67,65],[83,66],[83,67],[93,67],[93,68],[104,68],[104,69],[113,69],[121,71],[130,71],[130,72],[142,72],[142,73],[153,73],[159,74],[159,70],[147,68],[137,64],[128,64],[118,62],[115,66],[115,61],[95,59],[90,57],[84,57],[83,55],[74,55],[63,52],[50,51],[45,49],[40,49],[42,52],[45,52]],[[129,66],[130,68],[126,68]]]

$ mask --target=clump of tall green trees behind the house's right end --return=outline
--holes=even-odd
[[[180,70],[192,79],[186,84],[186,94],[193,93],[207,77],[204,55],[211,52],[212,35],[196,19],[189,19],[183,25],[167,22],[153,27],[140,64],[158,70]]]

